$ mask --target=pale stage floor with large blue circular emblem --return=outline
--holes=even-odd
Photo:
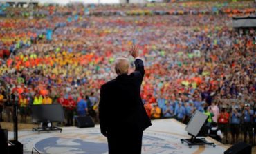
[[[189,138],[185,125],[175,119],[159,119],[152,121],[152,126],[143,133],[144,154],[219,154],[228,148],[223,144],[207,138],[213,146],[192,146],[181,144],[180,139]],[[9,132],[9,139],[13,133]],[[41,153],[53,154],[107,154],[107,139],[100,134],[100,126],[95,128],[65,127],[60,131],[41,132],[19,131],[19,142],[24,144],[24,151],[32,151],[35,147]],[[125,149],[124,149],[125,151]],[[30,152],[31,153],[31,152]],[[122,152],[120,151],[120,154]]]

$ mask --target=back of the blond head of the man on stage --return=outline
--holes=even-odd
[[[129,60],[126,58],[116,59],[115,70],[116,70],[116,74],[118,74],[118,75],[128,74]]]

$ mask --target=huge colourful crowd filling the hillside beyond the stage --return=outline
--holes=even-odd
[[[10,122],[17,96],[22,122],[31,104],[62,104],[66,126],[75,114],[97,120],[100,86],[116,77],[116,57],[138,44],[149,117],[188,123],[199,110],[225,139],[231,130],[237,142],[242,130],[252,143],[256,32],[233,29],[231,16],[253,15],[255,4],[207,4],[7,7],[0,17],[0,113],[4,108]]]

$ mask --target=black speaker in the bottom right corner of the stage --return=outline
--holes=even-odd
[[[224,154],[250,154],[250,153],[252,153],[252,146],[244,142],[239,142],[237,144],[234,144],[224,152]]]

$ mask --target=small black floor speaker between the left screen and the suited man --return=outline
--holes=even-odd
[[[94,127],[95,124],[90,116],[75,117],[75,126],[79,128]]]

